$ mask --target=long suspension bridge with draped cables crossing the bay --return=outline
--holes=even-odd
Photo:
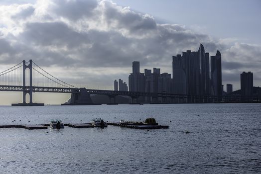
[[[116,104],[116,96],[130,96],[131,103],[137,103],[140,96],[150,98],[151,103],[195,103],[216,102],[217,96],[211,95],[186,95],[173,93],[152,93],[135,91],[115,91],[101,89],[86,89],[75,87],[46,72],[32,60],[18,63],[17,65],[0,72],[0,91],[23,92],[22,102],[12,105],[34,106],[44,105],[33,102],[33,92],[71,93],[69,105],[93,104],[90,94],[107,95],[110,104]],[[29,102],[26,102],[26,95]],[[160,98],[160,100],[159,100]]]

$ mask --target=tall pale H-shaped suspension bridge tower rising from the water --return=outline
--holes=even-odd
[[[23,63],[23,103],[26,103],[26,94],[28,93],[30,96],[29,103],[32,104],[32,60],[29,60],[29,64],[26,65],[25,60],[22,61]],[[25,75],[26,75],[26,69],[29,69],[29,91],[25,90]]]

